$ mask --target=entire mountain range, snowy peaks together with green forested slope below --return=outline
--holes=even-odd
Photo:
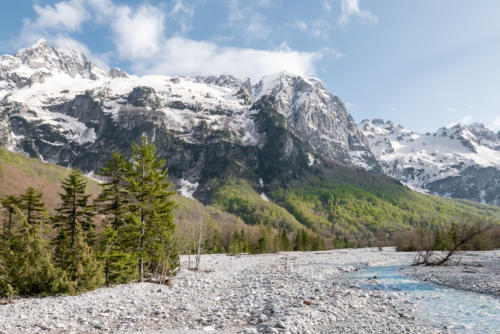
[[[180,194],[250,224],[346,241],[390,238],[422,220],[500,216],[408,189],[498,205],[500,134],[480,125],[421,135],[356,124],[321,81],[290,73],[255,84],[139,77],[44,40],[0,57],[0,146],[93,176],[142,135]]]

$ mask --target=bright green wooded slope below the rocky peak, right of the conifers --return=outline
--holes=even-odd
[[[500,208],[411,191],[380,177],[352,182],[311,177],[271,187],[264,201],[243,179],[228,179],[212,204],[249,224],[307,228],[334,247],[391,243],[395,232],[419,224],[438,226],[483,217],[500,221]]]

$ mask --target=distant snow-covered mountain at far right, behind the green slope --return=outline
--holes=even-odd
[[[358,127],[385,174],[419,191],[500,205],[500,132],[475,123],[420,134],[380,119]]]

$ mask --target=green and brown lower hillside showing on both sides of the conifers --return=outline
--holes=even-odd
[[[59,202],[60,182],[68,174],[64,167],[0,148],[0,197],[19,195],[32,185],[43,191],[51,210]],[[262,226],[270,226],[273,231],[286,229],[290,238],[306,230],[321,236],[328,247],[355,247],[390,243],[395,232],[418,224],[440,225],[464,217],[500,220],[499,207],[417,193],[390,178],[345,166],[309,174],[286,186],[266,187],[270,201],[255,190],[260,189],[258,184],[242,178],[213,179],[210,186],[208,206],[175,195],[175,221],[179,233],[189,236],[193,226],[210,217],[226,248],[242,228],[254,241]],[[97,182],[88,179],[88,191],[97,194]]]

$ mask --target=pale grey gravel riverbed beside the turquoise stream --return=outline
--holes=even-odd
[[[498,269],[499,255],[482,252],[490,264],[470,271],[484,271],[478,280],[486,281],[488,268]],[[347,274],[409,264],[413,256],[392,248],[204,255],[206,272],[182,269],[170,286],[135,283],[80,296],[17,299],[0,306],[0,333],[436,333],[416,316],[404,292],[366,290]],[[184,266],[187,261],[182,258]],[[453,284],[446,278],[452,274],[437,271],[410,274]],[[498,271],[493,275],[489,280],[498,284]]]

